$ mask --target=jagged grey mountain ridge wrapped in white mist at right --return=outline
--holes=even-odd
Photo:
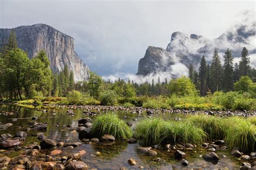
[[[212,40],[197,34],[188,36],[182,32],[174,32],[166,49],[157,47],[159,50],[156,52],[154,50],[156,47],[147,48],[144,58],[139,60],[137,75],[172,72],[172,65],[175,63],[181,63],[187,68],[192,63],[195,68],[198,68],[203,55],[208,63],[211,62],[215,48],[221,57],[226,49],[230,48],[233,57],[238,58],[241,56],[243,47],[249,50],[251,56],[256,56],[256,46],[253,46],[255,42],[255,22],[234,25],[232,29]],[[251,62],[256,66],[256,60]]]

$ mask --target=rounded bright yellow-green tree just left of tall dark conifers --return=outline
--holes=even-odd
[[[197,95],[197,90],[191,80],[185,76],[172,80],[169,84],[170,95],[186,96]]]

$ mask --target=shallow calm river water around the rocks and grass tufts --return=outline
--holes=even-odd
[[[83,113],[83,110],[73,110],[75,115],[70,116],[66,113],[68,109],[47,109],[48,112],[38,111],[37,109],[30,109],[24,107],[18,107],[17,105],[0,105],[1,111],[14,112],[14,115],[5,116],[0,115],[0,122],[12,123],[13,126],[9,127],[7,130],[0,131],[3,133],[15,134],[18,131],[24,130],[23,128],[28,127],[28,123],[32,121],[32,117],[38,117],[37,122],[48,122],[48,129],[44,132],[45,136],[51,138],[55,141],[80,141],[78,138],[78,133],[76,131],[69,130],[64,128],[65,125],[72,125],[73,128],[77,127],[78,119],[90,117],[93,119],[95,116],[89,116]],[[104,114],[101,112],[100,114]],[[129,112],[116,112],[118,116],[124,119],[127,122],[131,122],[132,129],[135,128],[136,123],[139,119],[147,117],[146,113],[143,113],[142,116],[138,114],[132,114]],[[97,114],[99,115],[99,114]],[[96,116],[97,116],[96,115]],[[172,119],[173,117],[185,118],[182,114],[155,114],[152,117],[163,117],[164,119]],[[16,122],[12,121],[12,118],[17,118]],[[138,121],[133,121],[132,119],[137,118]],[[60,123],[57,127],[56,123]],[[17,127],[21,126],[22,129]],[[39,143],[39,140],[36,137],[38,132],[28,131],[28,137],[23,142],[22,146],[28,144]],[[201,158],[201,155],[206,152],[202,148],[198,148],[194,151],[185,151],[186,160],[190,162],[190,165],[184,167],[180,164],[179,161],[175,160],[172,152],[155,150],[157,151],[156,157],[149,157],[146,154],[140,154],[137,152],[137,147],[139,143],[128,144],[126,141],[116,141],[113,145],[106,146],[102,144],[85,144],[75,147],[72,150],[65,150],[65,148],[59,148],[62,150],[62,156],[68,155],[70,153],[75,153],[80,150],[86,150],[86,154],[83,155],[82,160],[90,167],[97,169],[119,169],[120,167],[126,167],[127,169],[138,169],[139,166],[143,166],[145,169],[239,169],[241,164],[240,160],[234,158],[230,155],[230,152],[227,151],[217,151],[216,153],[220,157],[220,161],[217,165],[212,164],[211,162],[206,162]],[[96,157],[96,152],[102,153]],[[4,153],[10,158],[15,158],[22,151],[8,150]],[[46,151],[46,154],[50,151]],[[127,163],[127,160],[133,158],[137,161],[137,165],[130,166]],[[155,161],[154,159],[161,158],[160,161]]]

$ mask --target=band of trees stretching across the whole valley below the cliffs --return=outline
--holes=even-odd
[[[207,64],[203,55],[198,72],[193,65],[189,68],[189,79],[180,79],[177,82],[167,79],[155,82],[134,83],[132,80],[104,81],[95,73],[90,73],[87,81],[75,83],[74,74],[65,66],[60,73],[52,73],[46,52],[40,51],[31,60],[25,51],[17,47],[16,35],[11,31],[9,42],[4,44],[0,52],[0,98],[2,100],[22,100],[35,96],[65,97],[72,90],[80,91],[98,100],[100,95],[112,96],[170,96],[173,89],[195,88],[201,96],[215,91],[235,90],[234,84],[242,77],[244,81],[255,82],[256,71],[250,67],[250,57],[244,47],[239,63],[233,65],[230,49],[225,52],[224,65],[221,65],[220,56],[215,49],[211,65]],[[250,78],[249,78],[250,77]],[[247,80],[249,79],[249,80]],[[187,84],[194,84],[193,87]],[[184,84],[184,87],[174,86],[174,83]],[[240,85],[237,85],[237,87]],[[238,89],[239,90],[239,89]],[[185,91],[186,92],[186,91]],[[188,94],[187,94],[188,95]]]

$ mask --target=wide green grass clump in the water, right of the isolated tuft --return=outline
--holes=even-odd
[[[165,143],[200,144],[206,134],[191,122],[164,121],[160,118],[144,119],[136,127],[137,137],[147,146]]]

